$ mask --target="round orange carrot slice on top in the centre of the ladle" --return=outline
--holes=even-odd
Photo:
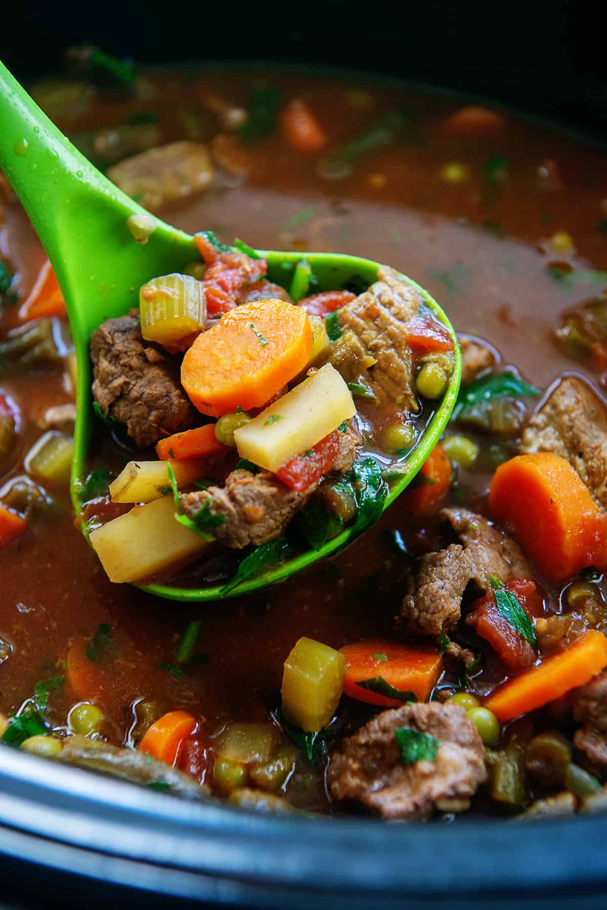
[[[181,384],[203,414],[259,408],[298,375],[312,352],[308,313],[285,300],[253,300],[198,335]]]

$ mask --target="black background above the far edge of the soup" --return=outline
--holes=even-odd
[[[607,137],[601,8],[585,0],[4,0],[0,58],[25,81],[82,42],[142,63],[354,66],[492,96]]]

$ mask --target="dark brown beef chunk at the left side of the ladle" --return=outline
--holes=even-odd
[[[126,424],[141,449],[187,430],[194,410],[177,361],[141,337],[137,311],[108,319],[91,336],[93,395],[106,417]]]

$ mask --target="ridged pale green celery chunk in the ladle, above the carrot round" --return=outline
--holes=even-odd
[[[173,347],[207,324],[204,285],[190,275],[163,275],[139,291],[141,334]]]

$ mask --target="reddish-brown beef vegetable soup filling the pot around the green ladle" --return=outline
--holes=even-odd
[[[70,739],[73,754],[65,746],[63,757],[86,764],[103,744],[137,750],[151,731],[149,752],[201,793],[207,787],[232,802],[323,813],[362,804],[388,817],[451,818],[467,809],[600,806],[607,771],[607,696],[598,675],[607,664],[602,148],[509,113],[358,76],[249,68],[97,82],[92,68],[33,93],[126,192],[178,227],[212,230],[224,243],[340,251],[400,269],[439,300],[464,337],[466,384],[415,489],[334,560],[274,589],[204,605],[112,584],[75,526],[65,465],[45,474],[32,452],[51,432],[68,453],[70,339],[60,303],[51,299],[45,309],[52,295],[35,288],[45,280],[44,251],[0,184],[0,410],[8,434],[0,499],[27,522],[0,551],[0,710],[25,714],[16,743],[35,735],[32,751],[56,755]],[[269,99],[274,113],[256,113],[256,97],[258,105]],[[133,182],[116,167],[179,140],[207,147],[212,176],[198,191],[193,180],[175,191],[159,172],[147,183],[136,173]],[[554,389],[563,400],[547,398]],[[97,429],[91,468],[116,476],[137,449],[115,428]],[[526,460],[515,464],[520,452]],[[553,489],[566,492],[558,514],[537,452],[556,460]],[[78,528],[91,516],[116,515],[101,476]],[[491,537],[479,515],[507,525],[529,562],[516,544],[510,549],[511,537]],[[578,543],[568,536],[575,521]],[[482,567],[470,563],[460,578],[480,545]],[[459,593],[437,587],[434,563],[424,563],[452,547],[440,578],[460,584]],[[500,551],[501,573],[487,548],[491,558]],[[227,577],[211,560],[178,578],[203,575]],[[285,716],[285,662],[297,669],[297,655],[288,655],[302,637],[329,646],[329,656],[362,642],[343,652],[346,694],[316,734]],[[530,676],[539,671],[540,682]],[[494,693],[522,674],[523,693]],[[314,694],[306,692],[309,704]],[[397,709],[396,720],[386,708]],[[166,715],[172,726],[162,733]],[[14,726],[5,730],[9,743]],[[41,735],[59,745],[41,745]],[[420,784],[429,764],[440,781],[433,796]],[[156,765],[151,777],[127,758],[121,769],[158,789],[190,792],[180,775],[165,777]]]

